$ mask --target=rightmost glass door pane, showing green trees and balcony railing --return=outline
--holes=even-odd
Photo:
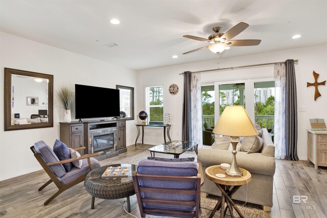
[[[254,119],[262,128],[272,129],[275,110],[275,82],[254,83]]]

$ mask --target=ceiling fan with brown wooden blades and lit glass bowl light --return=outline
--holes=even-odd
[[[259,45],[260,39],[240,39],[240,40],[230,40],[231,38],[239,35],[242,31],[244,31],[249,25],[245,22],[240,22],[231,29],[229,29],[226,33],[220,33],[220,27],[214,27],[213,31],[215,32],[212,35],[209,35],[207,39],[185,35],[183,37],[194,39],[202,42],[212,43],[211,45],[207,45],[204,47],[200,47],[199,49],[195,49],[189,52],[183,53],[183,55],[196,52],[202,49],[209,49],[213,53],[217,53],[217,55],[223,52],[225,49],[229,49],[229,46],[250,46],[250,45]]]

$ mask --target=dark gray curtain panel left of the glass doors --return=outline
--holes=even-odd
[[[185,71],[183,90],[183,117],[182,117],[182,140],[191,141],[192,137],[192,115],[191,115],[191,72]]]

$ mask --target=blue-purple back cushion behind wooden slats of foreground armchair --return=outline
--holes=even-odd
[[[163,162],[156,160],[141,160],[138,162],[137,173],[149,175],[168,175],[168,176],[197,176],[199,165],[196,162]],[[140,180],[140,185],[143,187],[153,188],[183,188],[195,189],[195,182],[181,182],[181,181],[160,181],[160,180]],[[195,201],[195,195],[180,195],[176,193],[151,193],[143,192],[143,198],[160,198],[162,200],[176,200],[176,201]],[[194,210],[192,206],[184,205],[158,205],[158,204],[145,204],[145,208],[168,210]]]

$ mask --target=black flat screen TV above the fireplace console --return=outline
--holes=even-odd
[[[75,84],[75,118],[120,115],[119,89]]]

